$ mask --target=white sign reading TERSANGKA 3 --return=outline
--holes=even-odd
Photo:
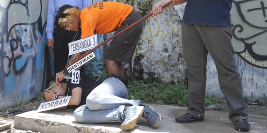
[[[97,35],[94,34],[92,36],[73,41],[69,43],[69,55],[73,55],[76,53],[80,53],[89,49],[94,48],[98,45]]]

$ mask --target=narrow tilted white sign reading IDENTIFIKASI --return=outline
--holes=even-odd
[[[68,72],[70,73],[73,70],[79,68],[80,66],[83,66],[84,64],[86,64],[87,62],[92,60],[93,58],[95,58],[95,54],[92,52],[92,53],[88,54],[86,57],[84,57],[81,60],[79,60],[78,62],[76,62],[75,64],[69,66],[67,68]]]

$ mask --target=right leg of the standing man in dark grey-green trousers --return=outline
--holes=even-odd
[[[235,65],[231,44],[231,27],[201,25],[198,32],[216,65],[220,89],[230,109],[229,119],[235,124],[237,131],[249,131],[242,81]]]

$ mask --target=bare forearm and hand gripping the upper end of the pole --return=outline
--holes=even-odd
[[[163,6],[164,4],[168,3],[170,0],[161,0],[158,3],[156,3],[153,8],[152,8],[152,16],[157,16],[158,14],[161,14],[164,12],[165,8],[161,8],[161,6]],[[169,6],[174,6],[174,5],[178,5],[178,4],[182,4],[186,2],[186,0],[173,0],[173,3],[169,4],[167,7]]]

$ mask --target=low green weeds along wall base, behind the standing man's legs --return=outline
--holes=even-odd
[[[134,80],[128,86],[129,99],[141,100],[142,102],[154,104],[169,104],[188,107],[188,93],[185,83],[177,85],[164,84],[156,81]],[[218,105],[219,101],[215,95],[205,95],[204,105]]]

